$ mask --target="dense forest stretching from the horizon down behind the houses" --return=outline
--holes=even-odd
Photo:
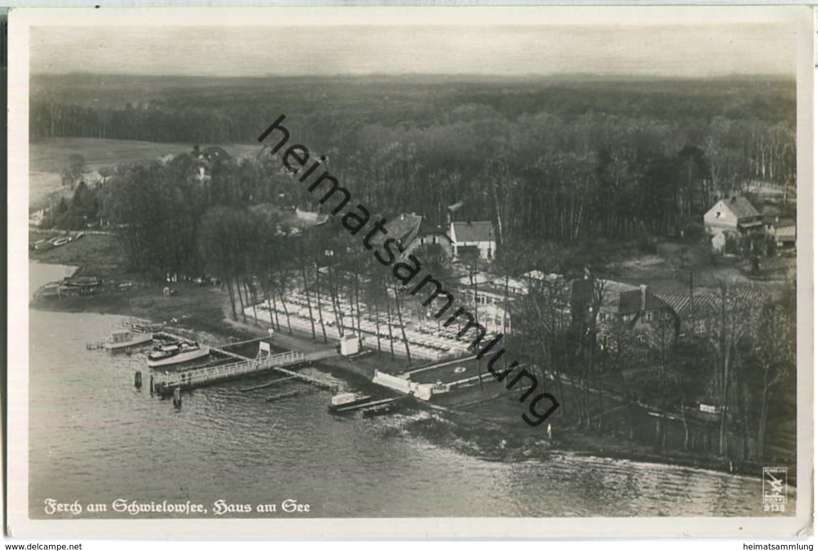
[[[173,81],[124,108],[92,81],[85,97],[101,96],[97,108],[55,99],[79,76],[43,79],[33,139],[252,142],[285,113],[291,141],[326,155],[358,201],[434,224],[463,201],[456,217],[491,220],[501,244],[679,233],[698,228],[718,194],[795,179],[794,90],[784,81]],[[296,183],[272,183],[266,157],[218,161],[220,195],[205,202],[314,208]]]

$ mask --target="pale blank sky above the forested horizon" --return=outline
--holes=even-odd
[[[645,13],[634,8],[611,17],[553,21],[489,16],[406,22],[393,12],[385,19],[330,18],[326,24],[279,16],[271,26],[258,26],[252,18],[255,26],[247,18],[226,18],[220,26],[213,18],[193,26],[173,25],[173,18],[161,26],[150,18],[144,25],[127,17],[93,26],[88,20],[49,21],[31,28],[29,67],[33,74],[205,76],[794,75],[791,20],[757,11]]]

